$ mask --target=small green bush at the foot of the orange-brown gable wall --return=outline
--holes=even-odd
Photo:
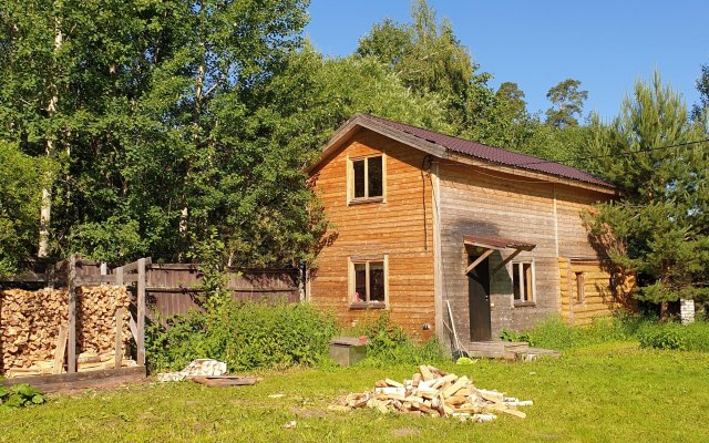
[[[369,338],[367,358],[360,363],[363,365],[421,364],[445,360],[445,352],[436,339],[415,343],[403,329],[391,322],[388,311],[382,311],[377,320],[350,333]]]

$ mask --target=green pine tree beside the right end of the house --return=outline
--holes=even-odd
[[[709,151],[695,142],[679,94],[638,82],[610,125],[593,123],[593,168],[624,192],[587,217],[592,238],[616,266],[636,271],[637,297],[651,302],[709,296]]]

